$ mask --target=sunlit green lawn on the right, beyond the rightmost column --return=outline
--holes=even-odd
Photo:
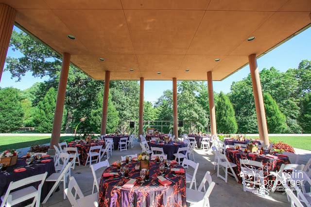
[[[250,137],[258,138],[258,137]],[[282,141],[286,144],[291,145],[294,148],[311,150],[311,137],[269,137],[269,140],[272,142]]]

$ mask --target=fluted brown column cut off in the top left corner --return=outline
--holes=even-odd
[[[0,81],[13,31],[15,16],[16,11],[12,7],[3,3],[0,4]]]

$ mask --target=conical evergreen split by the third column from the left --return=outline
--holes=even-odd
[[[101,133],[102,114],[103,114],[103,91],[100,91],[97,94],[96,105],[92,107],[89,117],[90,127],[92,131],[95,133]],[[119,121],[120,121],[119,113],[111,100],[111,94],[109,92],[106,133],[114,133],[118,128]]]

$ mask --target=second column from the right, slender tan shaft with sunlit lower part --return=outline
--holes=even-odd
[[[210,134],[217,135],[212,71],[207,72]]]

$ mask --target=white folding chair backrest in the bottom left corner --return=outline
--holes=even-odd
[[[15,181],[15,182],[11,181],[8,189],[6,190],[6,192],[4,194],[1,206],[4,206],[4,204],[7,202],[7,199],[9,197],[11,190],[15,190],[17,188],[29,185],[31,183],[41,181],[41,183],[39,184],[39,187],[38,187],[38,190],[41,191],[42,185],[44,183],[45,178],[47,177],[47,174],[48,174],[48,172],[45,172],[43,174],[37,174],[37,175],[31,176],[31,177],[26,177],[24,179],[21,179],[21,180]]]

